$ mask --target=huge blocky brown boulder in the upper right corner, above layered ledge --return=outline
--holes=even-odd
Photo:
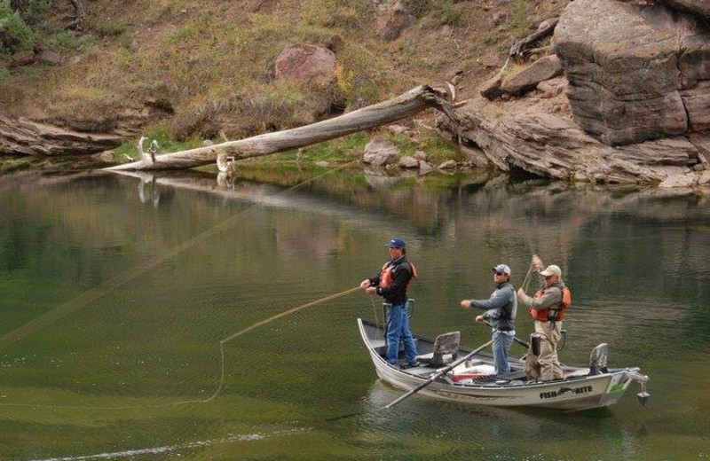
[[[604,144],[710,129],[710,31],[697,18],[659,4],[577,0],[553,49],[574,120]]]

